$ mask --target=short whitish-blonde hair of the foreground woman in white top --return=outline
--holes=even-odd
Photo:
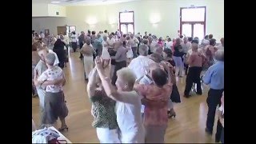
[[[130,88],[134,87],[136,76],[134,72],[130,70],[128,67],[124,67],[121,70],[118,70],[117,75],[118,77],[122,77],[122,80],[124,80],[124,82],[127,82]]]

